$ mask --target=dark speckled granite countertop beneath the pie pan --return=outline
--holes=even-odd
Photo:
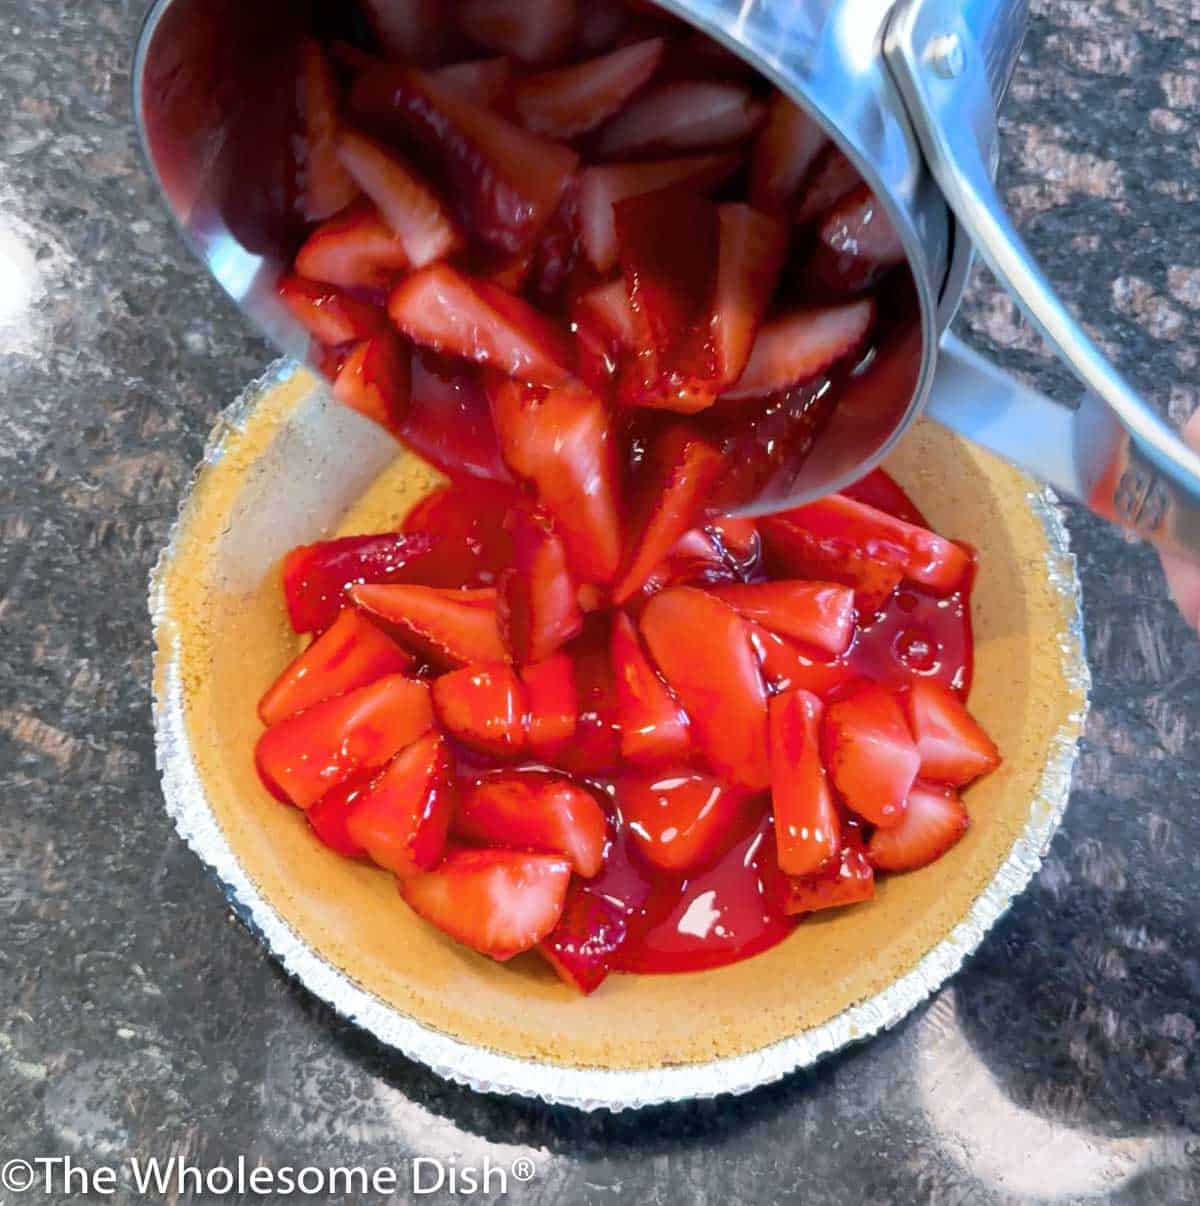
[[[1182,422],[1200,7],[1034,8],[1005,189]],[[1200,1199],[1200,642],[1153,554],[1077,510],[1095,693],[1066,821],[892,1032],[743,1099],[587,1117],[443,1083],[283,977],[176,837],[153,763],[147,574],[213,416],[271,353],[142,170],[133,24],[117,0],[0,0],[0,1165],[528,1155],[515,1200]],[[959,328],[1073,392],[987,277]]]

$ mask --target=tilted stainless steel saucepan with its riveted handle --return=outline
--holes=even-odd
[[[915,285],[912,369],[878,375],[870,399],[839,406],[786,494],[751,510],[841,488],[924,411],[1160,548],[1200,560],[1200,455],[1059,302],[993,187],[996,109],[1026,0],[658,2],[750,62],[841,144],[889,210]],[[230,222],[224,199],[269,157],[265,146],[263,162],[254,147],[247,156],[238,130],[264,58],[281,25],[318,8],[320,0],[157,0],[134,74],[146,152],[185,238],[299,359],[308,336],[275,295],[280,257]],[[1087,386],[1078,405],[1024,387],[947,332],[976,251]]]

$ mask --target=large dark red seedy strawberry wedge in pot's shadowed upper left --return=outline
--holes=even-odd
[[[533,247],[579,163],[568,147],[390,64],[358,77],[351,109],[388,140],[415,140],[467,229],[513,254]]]

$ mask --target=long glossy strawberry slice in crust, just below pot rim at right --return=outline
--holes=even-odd
[[[953,541],[845,494],[829,494],[780,517],[823,541],[848,543],[936,591],[955,590],[971,569],[971,556]]]

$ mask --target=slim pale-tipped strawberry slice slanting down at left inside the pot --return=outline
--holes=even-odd
[[[374,139],[343,130],[338,135],[338,158],[396,232],[415,268],[462,248],[462,236],[438,194]]]

